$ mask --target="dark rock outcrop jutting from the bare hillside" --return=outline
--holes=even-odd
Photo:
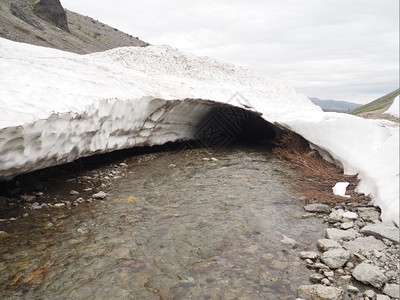
[[[34,12],[39,18],[70,32],[67,14],[61,6],[60,0],[36,0],[34,2]]]

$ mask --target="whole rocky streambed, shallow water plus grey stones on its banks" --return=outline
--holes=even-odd
[[[283,180],[300,175],[270,147],[180,149],[102,156],[10,184],[0,295],[398,298],[398,229],[375,207],[344,198],[303,208]]]

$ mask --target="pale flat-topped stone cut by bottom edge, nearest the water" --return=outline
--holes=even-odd
[[[343,299],[343,290],[322,284],[302,285],[297,290],[298,296],[313,300],[338,300]]]

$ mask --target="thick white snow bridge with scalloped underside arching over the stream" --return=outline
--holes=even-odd
[[[0,180],[95,153],[193,138],[215,103],[249,108],[359,174],[399,223],[399,128],[324,113],[284,83],[169,46],[77,55],[0,38]]]

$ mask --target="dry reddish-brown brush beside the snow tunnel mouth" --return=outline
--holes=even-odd
[[[284,134],[276,143],[273,153],[283,162],[295,168],[300,176],[286,178],[296,193],[304,195],[307,203],[342,203],[349,199],[333,194],[332,187],[340,181],[350,182],[347,195],[351,202],[369,201],[368,197],[356,193],[357,176],[343,174],[343,170],[324,160],[308,142],[295,133]]]

